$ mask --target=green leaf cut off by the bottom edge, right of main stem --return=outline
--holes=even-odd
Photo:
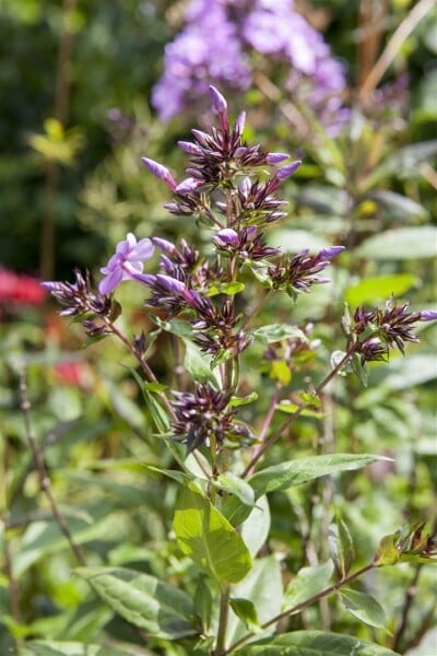
[[[399,656],[352,635],[323,631],[294,631],[245,645],[235,656]]]

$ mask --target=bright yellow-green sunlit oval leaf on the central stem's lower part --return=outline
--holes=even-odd
[[[181,551],[220,583],[237,583],[250,571],[239,534],[192,484],[178,499],[174,529]]]

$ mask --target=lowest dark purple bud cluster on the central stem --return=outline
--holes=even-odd
[[[227,408],[228,391],[217,390],[211,384],[196,384],[194,393],[174,391],[172,401],[176,421],[173,430],[181,436],[188,453],[212,442],[218,450],[226,446],[241,446],[252,440],[249,429],[235,420],[235,410]]]

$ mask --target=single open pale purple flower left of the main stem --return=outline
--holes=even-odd
[[[98,285],[101,294],[109,294],[122,280],[134,279],[143,271],[143,261],[152,257],[155,247],[147,238],[137,238],[132,233],[128,233],[123,242],[117,244],[116,253],[113,255],[107,266],[101,269],[105,278]]]

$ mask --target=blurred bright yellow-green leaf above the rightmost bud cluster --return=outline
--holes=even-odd
[[[417,285],[417,278],[412,273],[395,273],[393,276],[376,276],[366,278],[346,290],[346,302],[354,307],[366,303],[385,301],[391,295],[401,296],[412,286]]]

